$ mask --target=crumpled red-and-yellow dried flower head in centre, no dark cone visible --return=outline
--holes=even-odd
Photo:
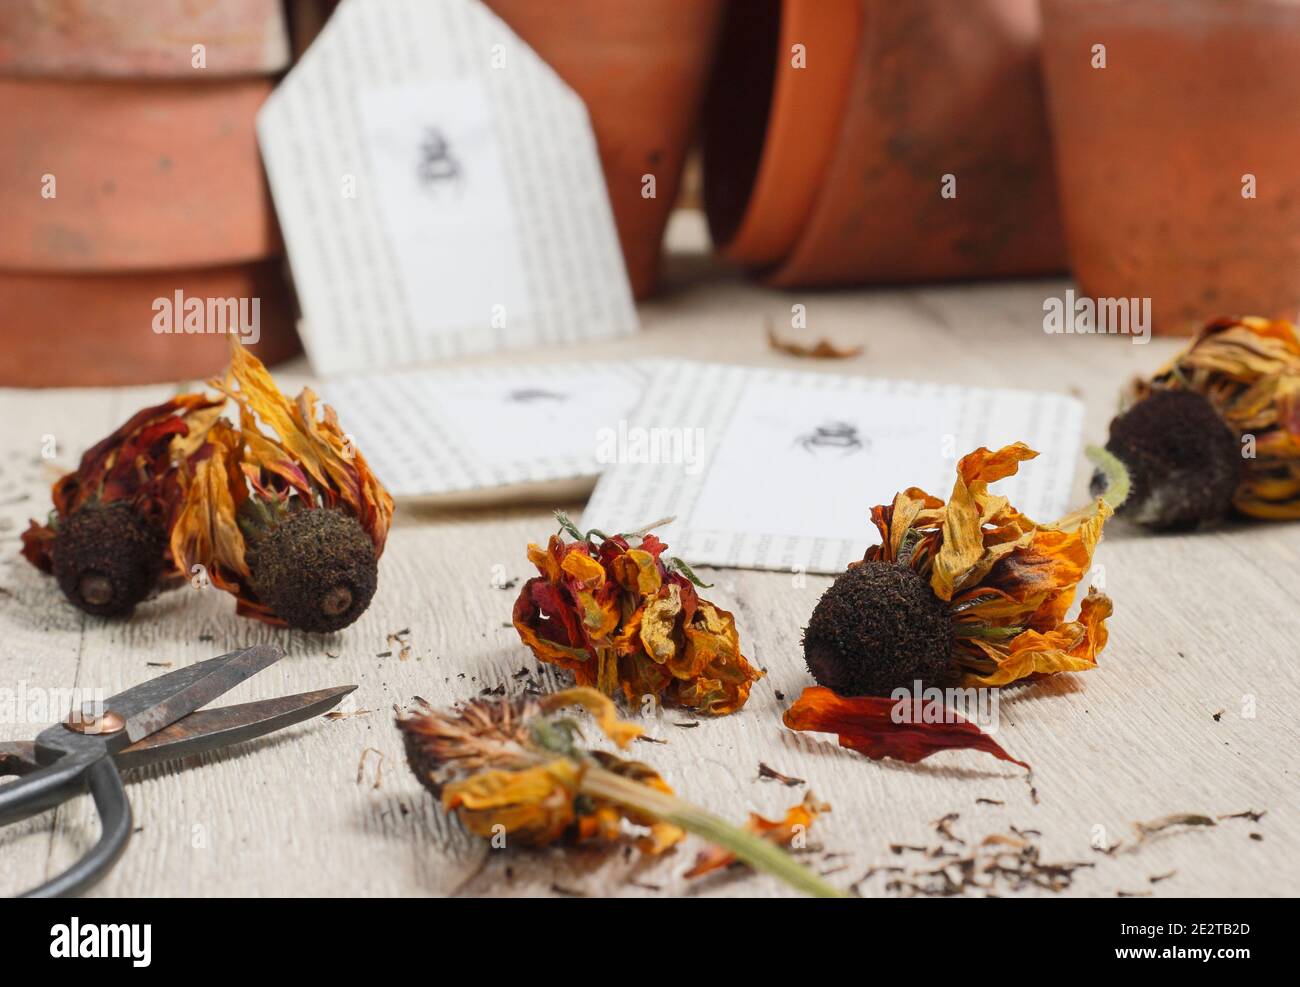
[[[738,710],[762,672],[740,651],[734,618],[696,592],[690,571],[654,534],[581,534],[528,546],[540,576],[515,601],[515,628],[538,659],[606,696],[623,689],[698,710]]]

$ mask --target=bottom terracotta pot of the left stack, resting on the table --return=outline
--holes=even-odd
[[[155,303],[166,299],[174,311],[177,291],[204,307],[209,298],[260,299],[260,341],[252,349],[269,363],[283,360],[299,343],[282,268],[269,260],[133,274],[0,272],[0,386],[151,384],[218,373],[229,363],[228,337],[155,332]],[[251,302],[246,311],[251,315]]]

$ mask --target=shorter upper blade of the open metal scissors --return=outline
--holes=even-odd
[[[135,743],[207,706],[283,657],[283,649],[276,645],[255,645],[140,683],[120,692],[104,706],[126,720],[126,736]]]

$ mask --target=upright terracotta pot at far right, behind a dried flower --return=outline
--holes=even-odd
[[[1082,290],[1150,298],[1157,333],[1221,315],[1296,319],[1300,5],[1049,0],[1044,13]],[[1105,68],[1092,68],[1095,44]]]

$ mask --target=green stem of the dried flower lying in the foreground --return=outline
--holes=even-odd
[[[581,791],[594,798],[603,798],[621,805],[624,809],[680,826],[723,849],[731,850],[736,858],[754,870],[762,870],[805,895],[814,897],[848,897],[842,891],[827,884],[822,878],[796,860],[780,847],[751,834],[738,826],[710,815],[676,796],[659,792],[633,782],[603,767],[589,765],[582,775]]]

